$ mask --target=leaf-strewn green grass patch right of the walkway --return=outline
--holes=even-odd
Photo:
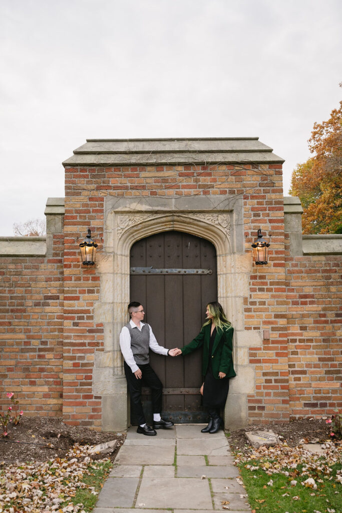
[[[301,476],[301,466],[298,465],[299,474],[297,477],[284,476],[283,474],[273,474],[268,476],[263,470],[254,470],[245,468],[245,465],[257,465],[256,460],[239,464],[248,500],[252,509],[256,513],[313,513],[314,510],[321,513],[328,513],[329,509],[334,509],[336,513],[341,513],[340,484],[335,481],[336,471],[342,467],[340,464],[333,465],[333,479],[329,481],[323,478],[323,483],[317,482],[317,477],[312,476],[317,484],[317,490],[302,486],[301,481],[305,481],[311,476]],[[255,476],[255,477],[254,477]],[[267,483],[272,479],[273,485]],[[297,481],[297,485],[292,487],[292,479]],[[335,493],[338,492],[338,493]],[[283,497],[283,494],[289,494],[289,497]],[[312,496],[311,494],[314,494]],[[293,497],[299,497],[295,500]],[[261,502],[260,502],[261,501]]]

